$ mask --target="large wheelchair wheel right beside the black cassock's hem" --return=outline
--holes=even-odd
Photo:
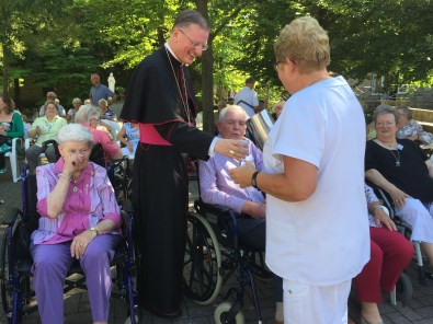
[[[206,305],[215,300],[221,288],[221,252],[214,230],[202,216],[191,213],[187,227],[184,292],[197,304]]]

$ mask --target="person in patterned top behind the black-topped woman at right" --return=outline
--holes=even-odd
[[[412,120],[412,111],[409,107],[398,106],[397,112],[399,114],[397,138],[415,140],[420,144],[430,144],[433,142],[432,134],[424,131],[420,124]]]

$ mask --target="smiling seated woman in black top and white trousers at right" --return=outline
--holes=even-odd
[[[433,265],[433,164],[419,144],[397,139],[399,113],[378,106],[373,115],[377,137],[367,142],[365,176],[383,188],[396,215],[412,227],[412,241],[421,246]]]

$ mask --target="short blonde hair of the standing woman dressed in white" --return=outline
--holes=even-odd
[[[292,59],[300,73],[327,68],[331,61],[328,33],[311,16],[295,19],[275,42],[276,61]]]

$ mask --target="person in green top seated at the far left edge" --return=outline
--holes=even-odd
[[[24,124],[21,115],[13,111],[12,99],[8,94],[0,94],[0,174],[7,172],[4,153],[11,150],[12,138],[24,136]]]

